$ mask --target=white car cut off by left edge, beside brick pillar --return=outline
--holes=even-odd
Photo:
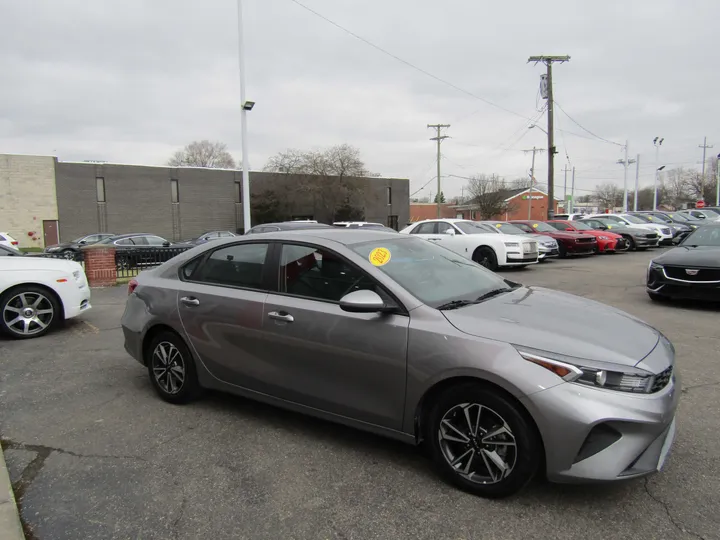
[[[90,307],[90,287],[78,263],[0,250],[1,333],[39,337]]]

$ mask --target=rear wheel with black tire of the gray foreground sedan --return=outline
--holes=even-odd
[[[165,358],[171,362],[170,365],[163,362],[159,347],[167,353]],[[165,401],[175,404],[189,403],[202,394],[190,349],[175,332],[161,332],[152,339],[146,350],[145,363],[150,383]],[[177,368],[182,370],[182,380]]]

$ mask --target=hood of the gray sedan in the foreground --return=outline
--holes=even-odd
[[[660,339],[628,313],[542,287],[519,287],[442,313],[466,334],[624,366],[637,365]]]

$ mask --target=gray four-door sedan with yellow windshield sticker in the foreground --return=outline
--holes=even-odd
[[[486,497],[541,471],[653,473],[675,433],[680,383],[660,332],[412,235],[198,246],[130,283],[122,327],[166,401],[215,389],[424,443],[445,478]]]

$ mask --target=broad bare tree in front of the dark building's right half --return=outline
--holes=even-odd
[[[360,151],[348,144],[319,151],[289,149],[272,156],[265,171],[293,175],[295,189],[312,199],[320,221],[351,212],[360,192],[357,179],[377,176],[367,170]]]

